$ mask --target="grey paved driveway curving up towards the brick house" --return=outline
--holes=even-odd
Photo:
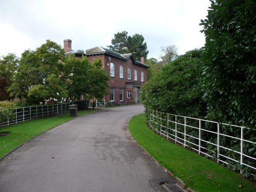
[[[0,161],[0,191],[164,191],[170,177],[126,130],[142,105],[78,117]]]

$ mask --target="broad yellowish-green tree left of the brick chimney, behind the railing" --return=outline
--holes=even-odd
[[[51,98],[66,98],[66,84],[60,78],[63,57],[61,47],[50,40],[35,51],[26,50],[20,59],[15,81],[9,88],[11,95],[28,98],[33,104]]]

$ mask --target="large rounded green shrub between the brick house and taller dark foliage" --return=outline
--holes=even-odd
[[[203,118],[206,104],[201,89],[202,49],[188,51],[165,65],[142,87],[142,102],[152,110]]]

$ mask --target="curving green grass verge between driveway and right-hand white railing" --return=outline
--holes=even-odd
[[[160,137],[145,123],[144,114],[129,122],[134,139],[162,166],[196,191],[256,191],[256,183],[232,170]]]

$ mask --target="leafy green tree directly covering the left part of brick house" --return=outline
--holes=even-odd
[[[61,78],[65,79],[70,99],[77,99],[80,95],[85,95],[88,99],[101,99],[106,92],[108,84],[108,74],[101,68],[101,60],[94,63],[89,62],[87,57],[76,58],[69,55],[65,58],[64,73]]]

